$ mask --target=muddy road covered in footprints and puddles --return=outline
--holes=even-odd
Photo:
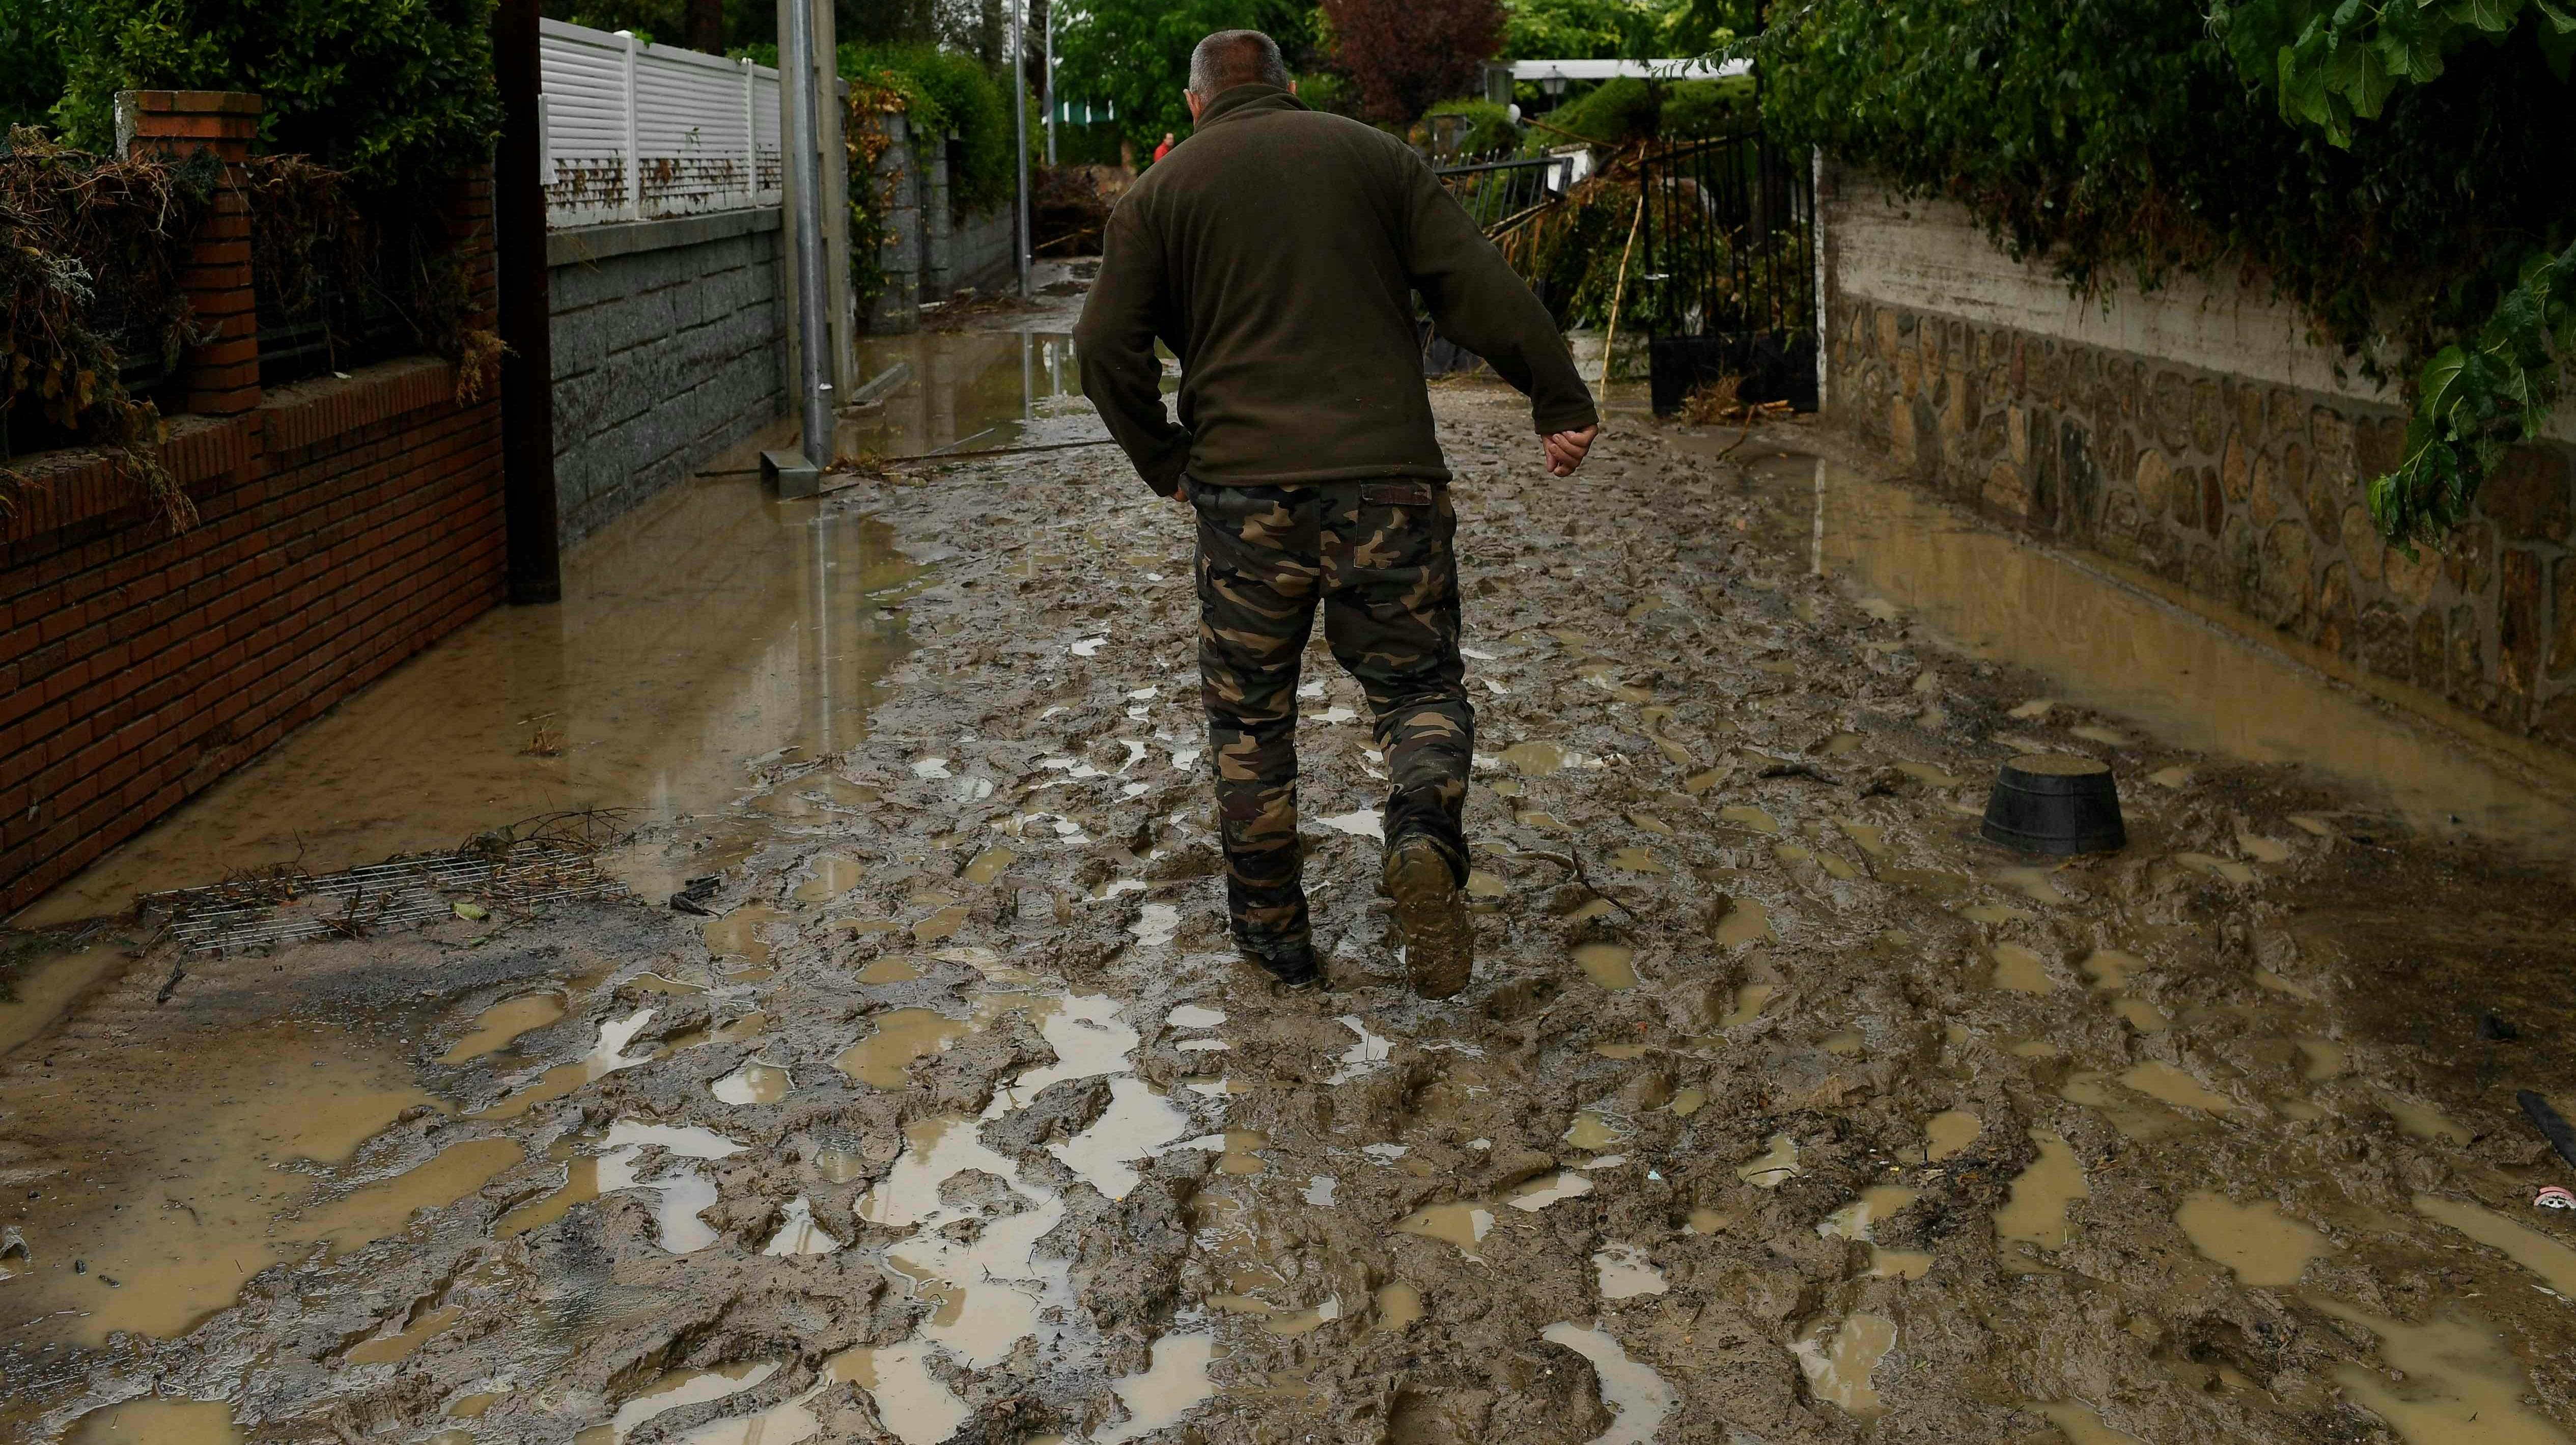
[[[1018,371],[979,446],[1097,435]],[[18,940],[0,1432],[2576,1440],[2545,786],[1826,435],[1558,482],[1507,392],[1437,407],[1466,994],[1401,987],[1321,649],[1329,992],[1231,958],[1188,515],[1113,451],[770,505],[866,541],[793,554],[853,569],[778,662],[837,701],[708,724],[732,773],[598,858],[636,896]],[[701,778],[629,742],[611,791]],[[2107,760],[2130,845],[1978,842],[2017,752]]]

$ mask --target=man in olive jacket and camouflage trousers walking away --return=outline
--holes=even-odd
[[[1425,997],[1466,987],[1476,716],[1458,659],[1455,513],[1412,294],[1530,397],[1548,469],[1597,433],[1548,309],[1404,142],[1296,100],[1260,31],[1190,57],[1185,147],[1118,201],[1074,345],[1146,484],[1198,513],[1198,675],[1236,948],[1321,974],[1296,835],[1298,654],[1324,605],[1386,752],[1381,883]],[[1180,422],[1162,407],[1162,340]]]

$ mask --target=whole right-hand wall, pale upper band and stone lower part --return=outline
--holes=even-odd
[[[2403,443],[2396,394],[2269,296],[2184,278],[2079,301],[1958,206],[1850,175],[1824,219],[1826,410],[1909,477],[2576,752],[2566,440],[2517,448],[2409,559],[2362,500]]]

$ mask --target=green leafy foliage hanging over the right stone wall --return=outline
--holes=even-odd
[[[2450,23],[2473,10],[2517,23]],[[2447,28],[2424,41],[2429,15]],[[2419,379],[2445,407],[2416,417],[2429,469],[2372,492],[2380,528],[2419,538],[2465,513],[2491,461],[2473,435],[2545,407],[2568,355],[2568,268],[2530,265],[2576,242],[2553,23],[2540,0],[1808,0],[1749,49],[1783,139],[1963,201],[2079,291],[2246,273],[2372,376],[2458,345]],[[2375,77],[2391,57],[2403,82]],[[2427,451],[2455,428],[2450,461]]]

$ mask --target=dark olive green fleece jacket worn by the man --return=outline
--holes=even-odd
[[[1162,495],[1352,477],[1448,482],[1412,291],[1530,397],[1595,425],[1548,309],[1404,142],[1236,85],[1110,214],[1074,325],[1082,392]],[[1162,404],[1180,358],[1180,422]]]

